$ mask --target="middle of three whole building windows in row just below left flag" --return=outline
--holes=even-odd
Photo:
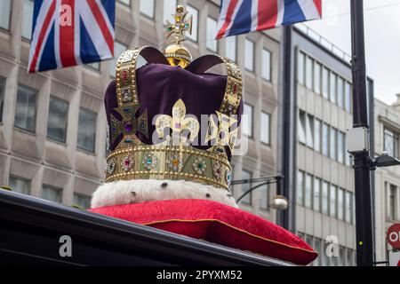
[[[47,137],[65,142],[67,138],[68,102],[50,96]]]

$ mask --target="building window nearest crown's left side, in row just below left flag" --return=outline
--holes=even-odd
[[[78,148],[89,152],[94,152],[94,143],[96,138],[96,114],[89,109],[81,107],[79,109],[78,123]]]

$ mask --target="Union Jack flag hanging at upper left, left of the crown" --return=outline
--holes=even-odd
[[[115,0],[35,0],[28,72],[114,57]]]

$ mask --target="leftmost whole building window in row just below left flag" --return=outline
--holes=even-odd
[[[35,132],[36,126],[36,91],[19,85],[14,126]]]

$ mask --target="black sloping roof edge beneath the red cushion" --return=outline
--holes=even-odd
[[[70,257],[59,254],[62,235]],[[292,265],[1,189],[0,264]]]

